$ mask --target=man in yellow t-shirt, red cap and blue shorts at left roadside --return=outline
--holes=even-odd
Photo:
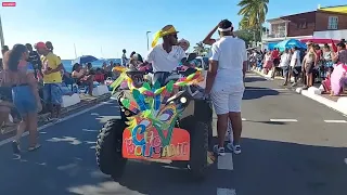
[[[61,114],[62,100],[62,75],[61,70],[64,68],[60,57],[51,52],[44,42],[36,43],[42,61],[43,74],[43,100],[49,110],[51,118],[49,120],[57,120]]]

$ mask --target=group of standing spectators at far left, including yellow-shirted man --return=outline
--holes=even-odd
[[[28,151],[40,147],[37,133],[37,113],[42,109],[39,95],[39,86],[42,83],[43,102],[51,113],[52,119],[57,119],[61,110],[62,93],[59,90],[62,83],[64,66],[59,56],[53,53],[51,42],[35,44],[15,44],[10,50],[2,48],[3,62],[1,63],[1,126],[11,123],[9,113],[20,120],[17,133],[12,143],[13,152],[18,154],[20,139],[25,130],[29,131]],[[41,82],[39,82],[41,80]]]

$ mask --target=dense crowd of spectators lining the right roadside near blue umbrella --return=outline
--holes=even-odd
[[[292,47],[284,48],[282,52],[278,48],[268,51],[254,50],[248,58],[253,68],[260,67],[265,74],[268,74],[271,69],[272,78],[275,74],[284,77],[283,86],[288,84],[291,77],[294,77],[292,87],[297,86],[298,80],[301,80],[303,89],[312,87],[318,80],[323,83],[326,93],[339,95],[347,84],[344,74],[340,75],[338,83],[332,84],[331,82],[334,67],[339,64],[347,64],[346,41],[344,39],[337,46],[325,43],[322,48],[309,41],[307,42],[307,49]]]

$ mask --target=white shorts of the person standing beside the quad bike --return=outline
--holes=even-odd
[[[211,101],[215,106],[217,115],[223,115],[228,113],[241,113],[241,102],[245,88],[229,87],[219,90],[211,90]]]

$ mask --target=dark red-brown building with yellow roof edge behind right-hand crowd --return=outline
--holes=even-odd
[[[267,22],[270,28],[262,35],[262,44],[271,46],[285,39],[312,37],[347,38],[347,5],[319,8],[317,11],[286,15]]]

